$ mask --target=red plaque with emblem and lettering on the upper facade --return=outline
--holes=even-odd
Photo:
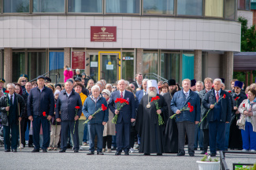
[[[117,27],[91,26],[91,42],[117,42]]]

